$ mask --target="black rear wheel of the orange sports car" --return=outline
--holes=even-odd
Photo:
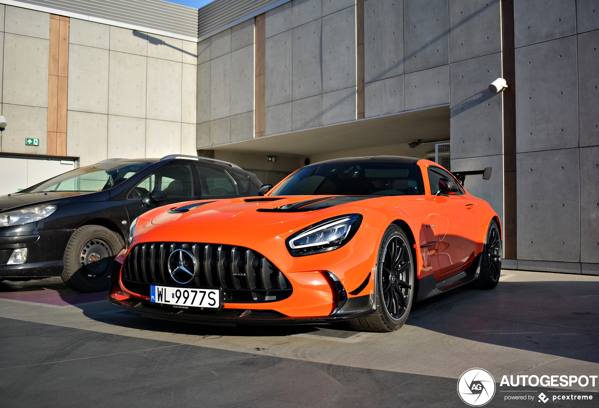
[[[474,289],[493,289],[501,275],[501,235],[497,222],[491,221],[480,254],[479,277],[473,282]]]

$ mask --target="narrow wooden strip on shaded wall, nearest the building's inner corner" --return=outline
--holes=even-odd
[[[255,23],[255,120],[254,137],[266,131],[266,14],[256,16]]]

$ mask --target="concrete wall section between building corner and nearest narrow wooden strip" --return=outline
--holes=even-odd
[[[198,43],[196,148],[254,137],[254,20]]]

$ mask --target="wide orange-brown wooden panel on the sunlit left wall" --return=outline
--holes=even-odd
[[[69,18],[50,14],[47,153],[66,155]]]

